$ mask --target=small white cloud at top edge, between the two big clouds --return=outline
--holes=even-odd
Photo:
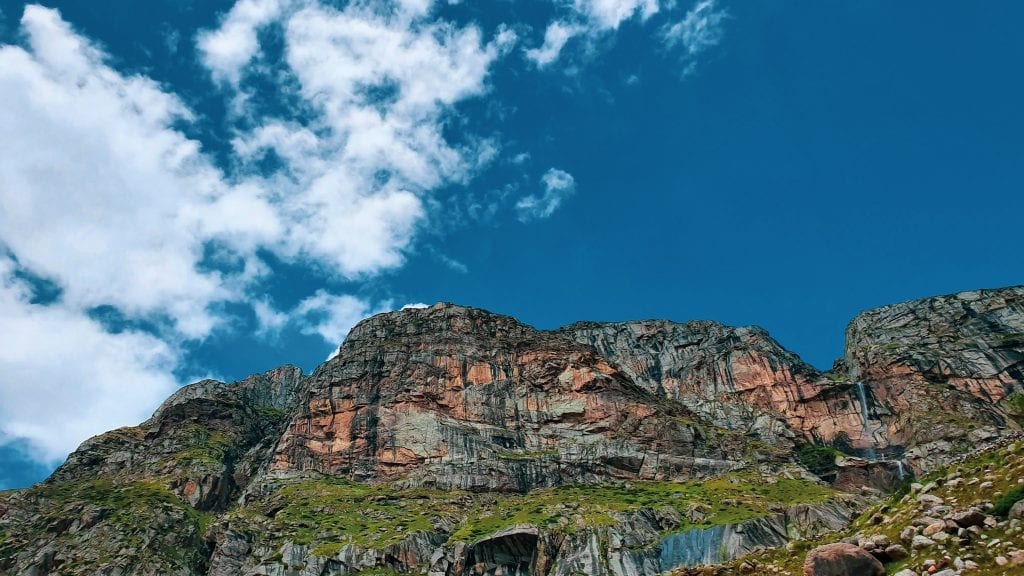
[[[281,15],[287,0],[239,0],[220,28],[201,33],[197,45],[214,79],[238,84],[243,69],[259,53],[259,30]]]

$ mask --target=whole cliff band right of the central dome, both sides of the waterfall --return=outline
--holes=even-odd
[[[757,327],[586,322],[561,333],[716,425],[778,445],[803,438],[891,454],[977,426],[1014,426],[999,401],[1024,380],[1022,287],[866,312],[826,373]]]

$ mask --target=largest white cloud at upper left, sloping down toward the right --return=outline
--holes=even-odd
[[[209,304],[242,289],[197,270],[204,243],[271,242],[274,211],[170,127],[190,118],[178,98],[105,66],[55,10],[28,6],[22,27],[31,51],[0,48],[0,242],[72,308],[110,304],[204,337]]]

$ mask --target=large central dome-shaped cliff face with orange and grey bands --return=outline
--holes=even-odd
[[[313,374],[273,469],[523,491],[740,465],[744,439],[695,418],[561,333],[438,304],[353,329]]]

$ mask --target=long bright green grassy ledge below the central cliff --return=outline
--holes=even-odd
[[[309,545],[313,553],[336,556],[347,544],[381,548],[412,533],[455,526],[452,541],[473,542],[517,525],[571,533],[617,524],[616,516],[640,509],[675,508],[695,526],[734,524],[768,516],[779,506],[824,501],[834,492],[802,480],[765,482],[731,475],[706,482],[638,482],[535,490],[528,494],[472,494],[458,490],[397,489],[324,478],[288,484],[231,513],[234,530],[271,547],[285,539]],[[267,535],[273,540],[265,540]],[[279,541],[280,540],[280,541]],[[368,573],[370,574],[370,573]],[[384,573],[389,574],[389,573]]]

